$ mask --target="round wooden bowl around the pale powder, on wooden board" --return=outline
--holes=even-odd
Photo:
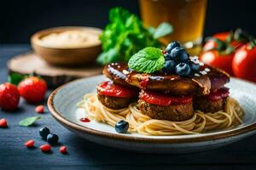
[[[87,31],[90,35],[97,37],[102,33],[99,28],[80,26],[55,27],[38,31],[31,37],[32,48],[36,54],[50,65],[79,66],[88,65],[96,61],[96,57],[102,50],[100,41],[90,42],[88,45],[79,47],[58,47],[42,42],[42,37],[63,31]]]

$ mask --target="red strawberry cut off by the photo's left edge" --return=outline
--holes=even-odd
[[[5,111],[15,111],[19,105],[20,94],[15,85],[5,82],[0,85],[0,107]]]

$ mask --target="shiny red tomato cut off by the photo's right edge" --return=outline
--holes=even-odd
[[[232,68],[236,77],[256,82],[256,47],[247,48],[247,45],[236,51]]]

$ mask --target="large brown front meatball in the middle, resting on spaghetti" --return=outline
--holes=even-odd
[[[146,116],[153,119],[167,120],[167,121],[185,121],[194,116],[193,102],[180,105],[153,105],[142,99],[138,100],[138,107],[140,111]]]

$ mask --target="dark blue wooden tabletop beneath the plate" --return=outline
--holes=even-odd
[[[0,45],[0,82],[7,81],[6,62],[15,54],[29,50],[28,45]],[[45,105],[45,104],[44,104]],[[217,150],[183,155],[148,155],[116,150],[80,139],[67,131],[49,112],[42,115],[34,127],[20,127],[18,122],[26,116],[37,116],[34,105],[20,101],[20,109],[14,113],[0,111],[0,118],[9,122],[8,128],[0,128],[0,170],[9,169],[256,169],[256,136]],[[50,154],[39,149],[44,140],[38,130],[49,127],[60,137],[68,149],[61,155],[56,146]],[[37,148],[28,150],[24,142],[35,139]]]

